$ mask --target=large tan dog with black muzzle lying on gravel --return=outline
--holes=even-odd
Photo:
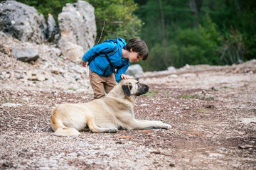
[[[55,135],[79,135],[80,130],[117,132],[117,129],[170,129],[161,121],[136,120],[134,103],[149,86],[135,79],[122,80],[107,96],[87,103],[63,103],[53,110],[50,123]]]

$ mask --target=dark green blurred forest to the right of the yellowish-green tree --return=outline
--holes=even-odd
[[[196,14],[191,12],[190,1],[185,0],[135,2],[139,4],[135,13],[145,23],[141,38],[149,46],[148,60],[141,63],[146,71],[185,64],[233,64],[255,58],[253,1],[195,1]]]

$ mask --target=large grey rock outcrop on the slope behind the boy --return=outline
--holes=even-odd
[[[93,47],[96,38],[95,9],[86,1],[66,4],[55,23],[48,20],[32,6],[17,1],[0,4],[0,30],[22,42],[51,42],[58,44],[63,56],[79,63],[82,55]]]

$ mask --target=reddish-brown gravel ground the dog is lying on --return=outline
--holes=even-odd
[[[0,96],[0,169],[255,169],[256,67],[144,77],[136,118],[171,130],[82,132],[56,137],[59,103],[92,100],[85,92],[11,91]]]

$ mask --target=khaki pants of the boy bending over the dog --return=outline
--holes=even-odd
[[[89,70],[90,84],[94,92],[94,98],[102,98],[105,96],[105,94],[108,94],[117,84],[114,78],[114,74],[110,74],[107,77],[102,77],[99,74],[92,72],[90,68]]]

